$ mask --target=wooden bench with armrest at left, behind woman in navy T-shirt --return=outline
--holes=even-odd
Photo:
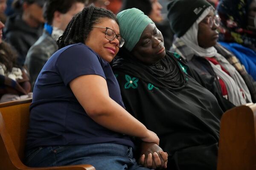
[[[0,170],[95,170],[91,165],[26,167],[22,160],[32,99],[0,104]]]

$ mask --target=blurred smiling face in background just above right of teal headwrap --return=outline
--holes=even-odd
[[[158,2],[158,0],[151,0],[151,3],[152,3],[152,10],[148,15],[148,17],[150,17],[151,20],[153,20],[155,23],[158,23],[163,20],[163,17],[161,14],[161,10],[163,7]]]

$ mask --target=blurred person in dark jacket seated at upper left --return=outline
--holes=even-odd
[[[43,31],[44,0],[16,0],[14,7],[17,12],[8,17],[4,34],[17,51],[17,64],[24,65],[27,51],[41,36]]]

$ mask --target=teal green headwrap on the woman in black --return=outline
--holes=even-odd
[[[154,23],[147,15],[137,8],[126,9],[116,15],[120,35],[125,39],[125,48],[131,51],[149,23]]]

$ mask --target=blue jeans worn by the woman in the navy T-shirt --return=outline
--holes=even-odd
[[[149,170],[133,158],[132,147],[113,144],[38,147],[25,154],[28,167],[91,164],[96,170]]]

